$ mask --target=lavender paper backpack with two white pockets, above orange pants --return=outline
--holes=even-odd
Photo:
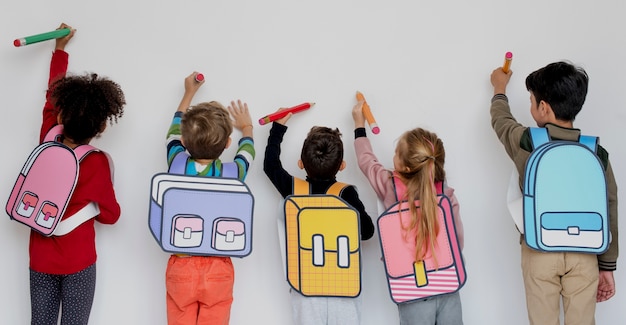
[[[189,155],[174,157],[151,182],[148,225],[169,253],[245,257],[252,252],[254,198],[234,162],[223,177],[185,175]]]

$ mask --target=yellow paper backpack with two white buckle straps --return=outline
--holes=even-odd
[[[359,212],[339,197],[346,186],[310,194],[309,183],[294,177],[294,194],[285,198],[287,281],[304,296],[361,293]]]

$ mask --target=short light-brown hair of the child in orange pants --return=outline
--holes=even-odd
[[[228,144],[233,123],[224,106],[204,102],[187,109],[180,121],[185,148],[194,159],[217,159]]]

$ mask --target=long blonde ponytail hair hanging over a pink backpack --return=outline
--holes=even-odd
[[[415,234],[415,261],[423,261],[426,252],[435,251],[439,225],[437,222],[436,182],[443,182],[445,150],[443,141],[435,133],[416,128],[405,132],[396,146],[396,155],[402,170],[396,172],[406,185],[406,196],[399,198],[413,202],[420,200],[420,208],[409,204],[411,222],[407,229]],[[434,254],[434,253],[433,253]],[[437,257],[434,256],[435,263]]]

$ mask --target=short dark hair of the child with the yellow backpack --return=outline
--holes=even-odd
[[[339,129],[312,127],[302,145],[300,159],[309,178],[333,179],[343,162],[343,141]]]

